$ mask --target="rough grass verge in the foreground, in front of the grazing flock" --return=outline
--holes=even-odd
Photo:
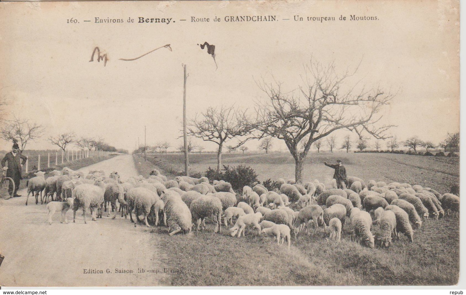
[[[339,158],[343,160],[343,156]],[[161,166],[176,165],[176,158],[158,161],[160,166],[140,159],[134,157],[138,173],[144,176],[153,168],[165,173]],[[268,172],[274,173],[271,169]],[[290,250],[270,237],[257,236],[256,229],[247,229],[246,237],[231,237],[230,227],[222,225],[221,233],[213,234],[213,224],[207,223],[204,231],[194,228],[191,235],[172,237],[166,227],[152,227],[153,238],[166,249],[162,264],[165,268],[183,269],[180,275],[169,276],[170,285],[454,285],[459,279],[459,219],[453,216],[425,221],[415,232],[414,243],[401,235],[390,248],[376,244],[372,249],[351,241],[348,224],[340,243],[327,240],[328,234],[319,228],[312,236],[301,232],[297,241],[292,236]],[[376,237],[378,231],[378,226],[373,226]]]

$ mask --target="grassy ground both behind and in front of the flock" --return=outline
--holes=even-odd
[[[364,180],[406,181],[448,191],[459,183],[459,159],[407,156],[401,154],[310,154],[304,179],[329,182],[333,170],[323,161],[341,159],[349,171]],[[144,162],[135,157],[139,174],[183,170],[182,155],[168,155]],[[154,164],[156,163],[156,164]],[[225,165],[246,164],[261,181],[294,178],[294,162],[288,154],[226,154]],[[205,171],[216,166],[213,154],[191,155],[191,168]],[[171,175],[166,174],[169,178]],[[298,235],[291,249],[278,246],[271,238],[249,230],[245,238],[231,237],[222,227],[213,234],[213,225],[204,232],[169,237],[167,228],[154,227],[165,249],[164,264],[181,268],[171,276],[173,286],[334,286],[334,285],[454,285],[459,275],[459,219],[445,216],[427,220],[414,235],[394,241],[390,248],[370,249],[351,241],[348,226],[339,244],[326,239],[322,228],[313,235]],[[378,227],[372,232],[377,235]]]

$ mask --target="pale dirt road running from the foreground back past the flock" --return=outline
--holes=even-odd
[[[118,171],[122,179],[137,175],[131,155],[120,155],[81,171]],[[35,205],[26,190],[21,197],[0,200],[0,251],[5,259],[0,267],[2,286],[157,286],[166,285],[160,265],[157,239],[150,229],[134,227],[125,219],[103,214],[87,224],[82,211],[68,211],[68,224],[46,223],[45,205]],[[88,213],[89,214],[89,213]],[[121,215],[120,215],[121,216]],[[132,273],[117,273],[117,269]],[[144,268],[139,273],[138,268]],[[107,270],[108,269],[108,270]],[[149,270],[158,270],[158,273]],[[102,271],[102,274],[95,273]],[[107,272],[110,273],[107,273]],[[85,274],[90,272],[90,274]]]

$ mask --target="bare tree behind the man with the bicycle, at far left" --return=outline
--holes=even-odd
[[[1,101],[0,101],[1,107]],[[44,133],[44,127],[31,123],[29,120],[14,119],[8,121],[0,131],[0,137],[6,141],[16,141],[20,146],[21,153],[26,148],[28,141],[35,141]]]

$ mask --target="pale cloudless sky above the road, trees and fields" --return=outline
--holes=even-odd
[[[456,7],[450,7],[450,5]],[[399,140],[418,135],[434,143],[459,131],[459,11],[450,1],[322,2],[50,2],[0,3],[0,95],[14,101],[13,116],[46,127],[28,149],[55,148],[49,135],[74,131],[102,136],[116,148],[181,139],[183,68],[187,113],[235,104],[253,108],[265,95],[254,79],[302,85],[311,56],[354,68],[366,86],[397,92],[383,123]],[[308,16],[377,16],[366,21],[307,21]],[[276,15],[274,22],[225,22],[227,15]],[[300,15],[304,21],[294,21]],[[191,16],[209,17],[193,23]],[[221,21],[213,22],[218,16]],[[79,23],[69,24],[74,17]],[[124,23],[96,24],[101,19]],[[126,22],[128,18],[135,23]],[[170,24],[137,23],[171,18]],[[186,21],[181,21],[186,19]],[[290,19],[290,20],[283,20]],[[91,20],[84,22],[83,20]],[[173,22],[173,20],[175,22]],[[197,44],[215,45],[216,61]],[[156,47],[165,48],[134,61]],[[94,47],[108,54],[89,62]],[[343,137],[343,134],[340,134]],[[356,136],[354,136],[356,138]],[[195,139],[194,142],[201,143]],[[275,141],[276,148],[285,148]],[[204,143],[206,150],[216,145]],[[0,141],[0,149],[11,143]],[[255,150],[257,141],[247,143]]]

